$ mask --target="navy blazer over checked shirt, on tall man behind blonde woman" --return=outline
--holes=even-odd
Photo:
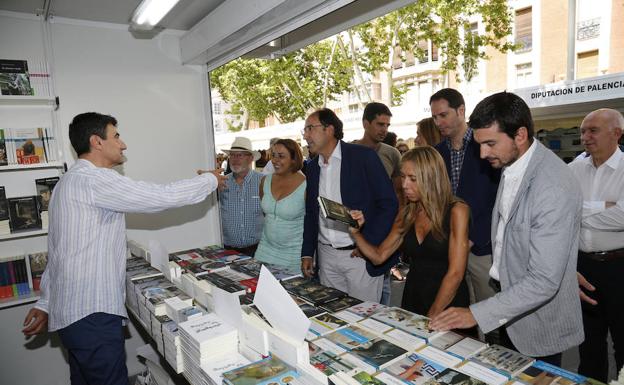
[[[451,177],[451,151],[446,140],[435,146],[444,158],[446,171]],[[471,138],[464,153],[459,184],[455,195],[470,206],[472,224],[468,238],[474,243],[470,251],[474,255],[492,254],[492,209],[496,202],[496,191],[500,182],[501,171],[492,168],[490,162],[480,157],[479,143]]]

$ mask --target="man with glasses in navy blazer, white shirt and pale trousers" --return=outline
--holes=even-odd
[[[322,217],[318,196],[362,210],[367,218],[364,237],[379,245],[390,232],[398,201],[392,183],[375,151],[342,141],[342,122],[327,108],[305,121],[304,139],[318,154],[307,165],[306,214],[301,270],[310,277],[316,253],[321,284],[363,301],[379,302],[383,273],[396,263],[390,258],[374,266],[359,256],[347,225]],[[370,218],[370,219],[369,219]]]

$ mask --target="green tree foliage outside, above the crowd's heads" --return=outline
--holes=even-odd
[[[485,33],[470,30],[475,18]],[[511,28],[506,0],[419,0],[277,59],[235,60],[212,71],[210,78],[232,111],[240,112],[243,129],[249,120],[263,122],[269,116],[281,122],[303,118],[345,91],[355,91],[366,103],[370,95],[362,73],[386,76],[384,102],[397,105],[407,91],[405,84],[392,81],[397,53],[403,61],[407,52],[423,58],[427,52],[419,42],[431,41],[440,52],[441,71],[470,80],[479,59],[487,59],[485,47],[501,52],[514,48],[507,41]],[[362,44],[354,44],[358,40]]]

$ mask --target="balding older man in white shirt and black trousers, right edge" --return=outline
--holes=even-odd
[[[588,157],[569,165],[583,192],[578,277],[585,341],[578,371],[603,382],[609,332],[617,370],[624,364],[624,154],[618,147],[623,128],[618,111],[591,112],[581,123]]]

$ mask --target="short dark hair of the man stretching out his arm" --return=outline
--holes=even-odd
[[[69,140],[74,151],[76,151],[76,155],[80,156],[91,151],[89,144],[91,135],[106,139],[106,127],[109,124],[116,127],[117,119],[97,112],[85,112],[76,115],[69,124]]]

